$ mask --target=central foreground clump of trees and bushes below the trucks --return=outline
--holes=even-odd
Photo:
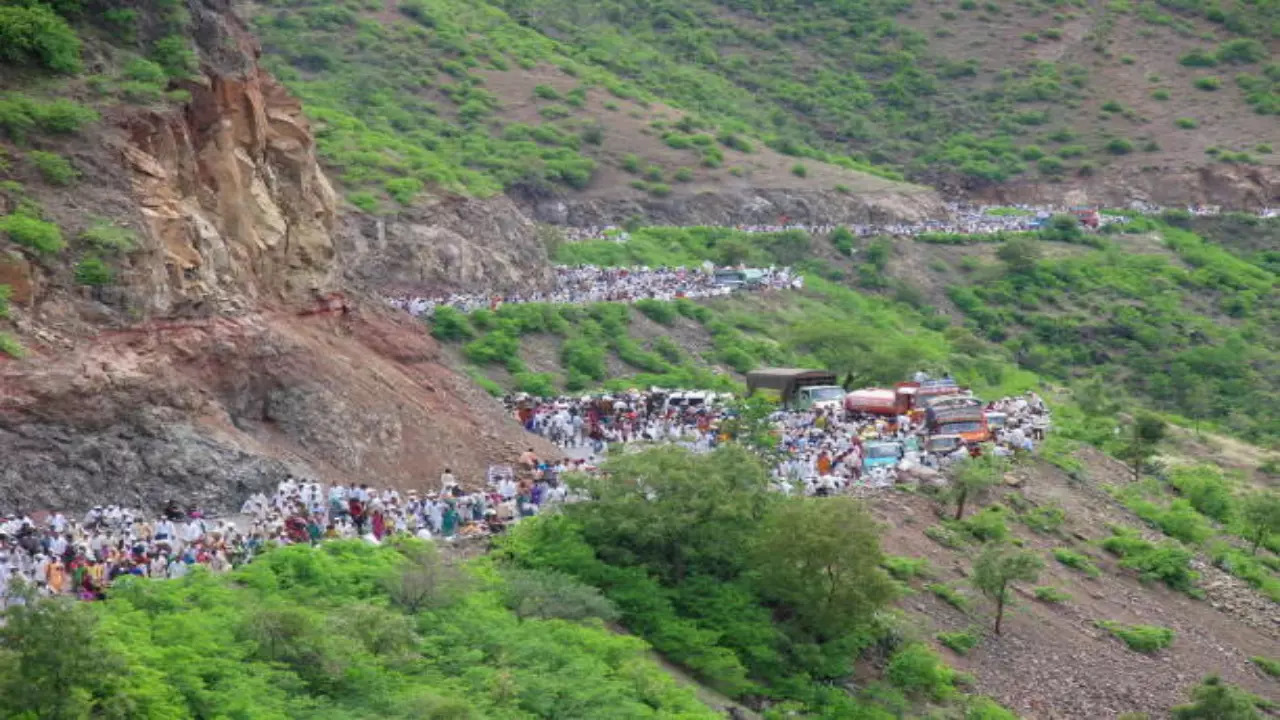
[[[737,446],[628,454],[609,470],[573,480],[595,501],[521,523],[499,556],[600,588],[627,628],[731,696],[827,716],[870,710],[865,693],[823,691],[884,642],[878,611],[896,587],[856,501],[773,493]],[[913,698],[956,694],[936,653],[895,644],[888,683]]]

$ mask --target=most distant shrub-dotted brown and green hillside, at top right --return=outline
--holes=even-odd
[[[1028,195],[1044,199],[1275,197],[1266,3],[500,5],[575,59],[792,152],[852,151],[947,187],[1039,183]],[[1178,188],[1144,172],[1219,160],[1252,179]]]

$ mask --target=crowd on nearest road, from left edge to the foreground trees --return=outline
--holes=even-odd
[[[233,518],[214,519],[169,502],[156,518],[109,505],[83,518],[63,512],[0,516],[0,609],[37,596],[100,600],[122,575],[180,578],[192,566],[225,573],[269,544],[388,536],[465,538],[500,532],[541,507],[577,500],[561,482],[585,461],[543,461],[529,450],[515,468],[495,468],[484,489],[467,491],[451,470],[439,489],[401,493],[367,484],[325,487],[291,478],[256,493]]]

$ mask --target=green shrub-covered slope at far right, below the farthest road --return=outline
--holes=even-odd
[[[1076,386],[1080,415],[1068,410],[1066,437],[1132,466],[1155,450],[1134,433],[1153,427],[1098,432],[1114,428],[1102,419],[1126,400],[1252,441],[1280,437],[1280,375],[1266,372],[1280,346],[1258,342],[1280,313],[1277,274],[1167,222],[1138,218],[1125,232],[1158,233],[1176,258],[1094,236],[1093,251],[974,273],[948,297],[975,333],[1010,348],[1023,368]]]

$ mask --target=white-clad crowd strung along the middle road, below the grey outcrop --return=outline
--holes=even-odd
[[[504,304],[552,302],[581,305],[588,302],[635,302],[637,300],[676,300],[680,297],[717,297],[736,290],[790,290],[804,283],[790,268],[744,269],[751,282],[726,281],[724,272],[712,265],[701,268],[598,268],[595,265],[557,265],[556,282],[548,291],[490,295],[454,292],[438,296],[401,296],[387,301],[413,316],[431,316],[435,309],[449,306],[461,313],[494,310]]]

